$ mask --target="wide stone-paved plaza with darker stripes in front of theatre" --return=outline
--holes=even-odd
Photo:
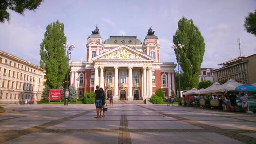
[[[1,144],[256,144],[256,114],[165,105],[5,105]]]

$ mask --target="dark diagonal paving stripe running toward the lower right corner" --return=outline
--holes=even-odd
[[[142,105],[137,105],[137,106],[140,106],[142,108],[146,108],[146,109],[151,110],[151,111],[155,111],[155,112],[157,112],[159,114],[162,114],[162,115],[165,115],[165,116],[168,116],[168,117],[173,117],[175,119],[178,119],[180,121],[186,122],[188,124],[201,127],[201,128],[203,128],[205,130],[209,130],[209,131],[210,130],[216,130],[216,133],[218,133],[220,135],[224,135],[224,136],[227,136],[229,138],[236,139],[236,140],[238,140],[240,142],[243,142],[243,143],[247,143],[247,144],[255,144],[256,143],[256,139],[255,138],[247,136],[247,135],[238,134],[236,131],[233,131],[233,132],[225,131],[224,129],[221,129],[221,128],[217,127],[217,126],[210,126],[210,125],[207,125],[207,124],[200,123],[200,122],[198,122],[196,120],[189,120],[189,119],[184,118],[184,117],[167,114],[167,113],[162,112],[162,111],[156,111],[155,109],[147,108],[147,107],[142,106]]]

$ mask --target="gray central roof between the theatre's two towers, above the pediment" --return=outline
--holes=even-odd
[[[104,41],[104,44],[142,44],[136,36],[110,36]]]

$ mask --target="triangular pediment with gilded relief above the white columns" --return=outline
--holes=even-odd
[[[150,56],[143,54],[127,45],[120,45],[106,53],[100,54],[92,58],[95,60],[142,60],[154,61]]]

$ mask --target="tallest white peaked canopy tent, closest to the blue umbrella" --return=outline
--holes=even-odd
[[[238,83],[237,81],[233,79],[229,79],[226,83],[220,85],[217,87],[215,90],[212,90],[212,93],[217,93],[217,92],[224,92],[227,90],[235,90],[236,87],[243,85],[242,83]]]

